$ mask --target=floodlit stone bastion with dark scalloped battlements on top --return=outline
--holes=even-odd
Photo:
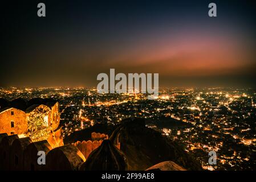
[[[52,99],[0,99],[0,133],[30,137],[32,142],[48,140],[52,147],[58,147],[63,146],[59,122],[59,103]]]

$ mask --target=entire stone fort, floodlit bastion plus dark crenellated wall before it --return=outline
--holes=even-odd
[[[0,169],[78,170],[108,135],[92,133],[91,140],[63,144],[59,103],[53,100],[0,99]],[[47,155],[39,165],[38,152]],[[58,161],[58,162],[56,162]]]

